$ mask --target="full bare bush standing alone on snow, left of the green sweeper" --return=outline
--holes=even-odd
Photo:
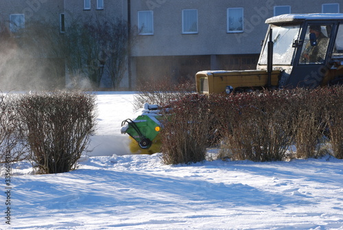
[[[23,95],[17,111],[38,173],[74,170],[95,126],[95,99],[84,93]]]

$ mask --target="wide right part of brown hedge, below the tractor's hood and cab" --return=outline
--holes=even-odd
[[[220,111],[220,157],[275,161],[289,146],[298,158],[320,157],[329,133],[335,157],[343,152],[343,88],[292,89],[240,93],[226,98]],[[232,113],[235,111],[235,113]],[[329,131],[329,132],[328,132]]]

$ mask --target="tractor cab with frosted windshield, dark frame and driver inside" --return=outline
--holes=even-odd
[[[285,14],[266,23],[266,38],[272,33],[272,68],[281,71],[279,87],[314,88],[343,77],[343,14]],[[268,42],[257,69],[267,69]]]

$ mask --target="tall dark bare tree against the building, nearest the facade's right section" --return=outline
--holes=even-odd
[[[117,89],[127,69],[128,49],[135,38],[135,30],[128,40],[128,25],[116,19],[76,19],[66,27],[64,51],[71,78],[88,78],[99,87],[103,75],[110,77],[110,87]]]

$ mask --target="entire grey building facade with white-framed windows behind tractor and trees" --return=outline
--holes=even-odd
[[[137,28],[121,89],[141,82],[193,80],[205,69],[255,69],[265,19],[286,13],[343,12],[337,0],[0,0],[10,32],[48,20],[60,36],[71,21],[123,19]],[[99,25],[101,26],[101,24]],[[2,30],[4,30],[2,28]],[[66,71],[67,72],[67,71]]]

